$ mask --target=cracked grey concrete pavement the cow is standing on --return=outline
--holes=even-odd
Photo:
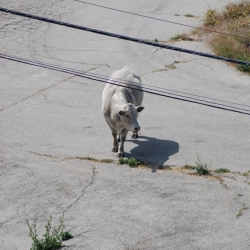
[[[105,5],[197,26],[208,8],[227,2]],[[190,32],[69,0],[2,0],[1,7],[148,40]],[[249,105],[249,76],[221,61],[4,13],[0,23],[2,53],[104,76],[128,65],[143,84]],[[211,53],[201,41],[173,45]],[[128,138],[125,152],[151,168],[80,160],[117,161],[101,113],[104,85],[3,59],[0,65],[0,249],[29,249],[25,221],[42,235],[49,216],[56,224],[63,212],[74,236],[65,249],[250,249],[248,116],[145,94],[141,136]],[[210,178],[181,169],[197,155],[209,169],[231,172]]]

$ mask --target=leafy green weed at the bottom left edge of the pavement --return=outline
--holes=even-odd
[[[56,250],[62,247],[62,241],[73,238],[71,233],[64,231],[63,215],[60,218],[60,224],[56,228],[51,226],[52,216],[50,216],[47,224],[45,225],[45,234],[42,239],[39,239],[36,232],[36,225],[31,226],[27,220],[30,234],[33,243],[30,250]]]

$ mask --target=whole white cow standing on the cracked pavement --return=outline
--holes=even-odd
[[[111,84],[112,82],[117,84],[117,81],[123,82],[123,86]],[[124,141],[128,131],[132,131],[132,138],[138,137],[141,128],[137,122],[137,117],[138,112],[144,109],[140,106],[142,99],[141,78],[128,67],[114,72],[105,85],[102,93],[102,111],[114,138],[112,151],[118,152],[118,157],[125,156]]]

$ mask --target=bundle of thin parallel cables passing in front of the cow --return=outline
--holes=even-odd
[[[94,80],[94,81],[98,81],[98,82],[102,82],[102,83],[108,82],[109,84],[112,84],[112,85],[121,86],[121,87],[128,87],[130,89],[134,89],[137,91],[143,91],[145,93],[149,93],[149,94],[153,94],[153,95],[157,95],[157,96],[162,96],[162,97],[167,97],[167,98],[171,98],[174,100],[185,101],[185,102],[189,102],[189,103],[199,104],[199,105],[203,105],[203,106],[207,106],[207,107],[211,107],[211,108],[226,110],[226,111],[235,112],[235,113],[244,114],[244,115],[250,115],[250,109],[239,108],[239,107],[235,107],[232,105],[230,106],[230,105],[223,104],[223,103],[218,103],[218,102],[216,103],[214,101],[211,102],[211,101],[207,101],[207,100],[197,99],[194,97],[178,95],[175,93],[162,91],[160,89],[158,89],[158,90],[153,89],[151,86],[148,87],[149,85],[143,86],[143,88],[138,88],[138,87],[134,86],[133,84],[122,81],[120,79],[109,78],[109,77],[102,76],[102,75],[82,72],[79,70],[74,70],[74,69],[70,69],[70,68],[66,68],[66,67],[62,67],[62,66],[43,63],[43,62],[30,60],[30,59],[26,59],[26,58],[11,56],[11,55],[7,55],[7,54],[3,54],[3,53],[0,53],[0,58],[15,61],[15,62],[20,62],[20,63],[24,63],[24,64],[28,64],[28,65],[33,65],[33,66],[37,66],[37,67],[47,68],[47,69],[51,69],[51,70],[55,70],[55,71],[60,71],[63,73],[79,76],[82,78],[86,78],[89,80]],[[209,99],[209,98],[207,98],[207,99]],[[221,101],[221,102],[223,102],[223,101]],[[224,102],[224,103],[226,103],[226,102]],[[241,105],[241,104],[235,104],[235,105],[246,106],[246,105]],[[0,109],[0,111],[3,109],[4,108]]]

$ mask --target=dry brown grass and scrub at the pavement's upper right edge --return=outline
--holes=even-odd
[[[222,12],[208,10],[204,21],[209,30],[234,36],[213,33],[209,44],[217,55],[250,62],[250,1],[229,4]],[[237,65],[250,73],[250,67]]]

